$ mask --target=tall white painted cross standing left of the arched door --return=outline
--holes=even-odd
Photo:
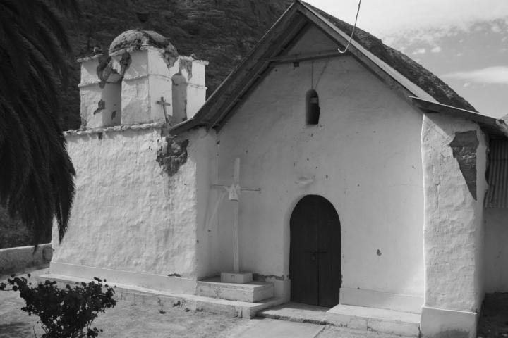
[[[214,184],[212,187],[222,187],[229,194],[229,201],[234,203],[233,214],[233,272],[240,272],[240,253],[238,248],[238,214],[240,213],[241,192],[261,192],[261,189],[248,189],[240,186],[240,158],[235,158],[233,168],[233,182],[226,185]]]

